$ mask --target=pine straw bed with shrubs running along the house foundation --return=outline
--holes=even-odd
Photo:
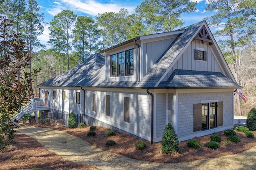
[[[120,154],[128,158],[134,158],[136,160],[146,160],[151,162],[168,162],[168,163],[178,163],[178,162],[191,162],[193,160],[200,160],[205,158],[216,158],[220,156],[226,156],[230,154],[236,154],[244,152],[245,150],[250,149],[253,146],[256,146],[256,138],[248,138],[244,133],[236,131],[236,136],[241,139],[241,142],[235,144],[229,142],[226,145],[228,136],[224,135],[224,132],[215,133],[219,135],[222,139],[220,142],[220,148],[216,149],[213,152],[212,149],[205,147],[206,142],[210,141],[210,136],[202,136],[198,138],[193,138],[198,140],[201,143],[201,147],[198,149],[189,148],[187,142],[180,142],[180,152],[166,155],[161,153],[161,142],[150,144],[147,140],[139,140],[128,134],[116,132],[115,136],[106,137],[105,132],[108,128],[97,127],[96,136],[87,136],[87,132],[90,130],[90,126],[84,128],[68,128],[62,126],[50,126],[50,125],[36,125],[38,127],[47,127],[54,130],[61,130],[66,133],[78,136],[83,140],[91,143],[93,146],[96,146],[102,150]],[[256,131],[252,131],[254,136],[256,136]],[[105,144],[108,140],[114,140],[116,145],[107,147]],[[136,150],[135,144],[138,141],[143,141],[146,143],[147,148],[143,151]]]

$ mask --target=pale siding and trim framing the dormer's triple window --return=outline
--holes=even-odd
[[[134,74],[133,75],[126,75],[126,76],[116,76],[116,77],[111,77],[111,58],[110,55],[120,53],[129,49],[133,49],[134,51]],[[106,75],[105,79],[106,81],[136,81],[138,79],[138,53],[139,53],[139,48],[137,45],[125,47],[124,49],[118,49],[117,51],[111,52],[106,54]],[[125,66],[126,67],[126,66]]]

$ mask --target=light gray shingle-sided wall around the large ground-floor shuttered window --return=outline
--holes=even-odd
[[[193,132],[194,104],[201,101],[223,101],[223,126],[233,125],[233,91],[207,93],[179,93],[178,95],[178,137],[200,133]],[[218,114],[218,113],[217,113]],[[218,127],[217,127],[218,128]],[[216,128],[214,128],[216,129]],[[211,130],[214,130],[211,129]],[[207,131],[207,130],[205,130]],[[210,130],[209,130],[210,132]]]

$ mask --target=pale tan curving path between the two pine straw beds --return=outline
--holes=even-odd
[[[91,146],[85,140],[62,131],[50,128],[22,126],[17,131],[36,138],[44,147],[62,156],[66,160],[77,163],[96,165],[99,169],[222,169],[241,170],[256,169],[256,146],[241,154],[220,158],[196,160],[178,164],[154,163],[126,158],[117,154],[102,151]]]

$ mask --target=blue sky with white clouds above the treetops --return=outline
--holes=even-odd
[[[44,21],[46,24],[43,35],[38,39],[41,43],[47,45],[49,40],[48,26],[53,17],[62,10],[71,10],[78,16],[90,16],[95,18],[98,13],[104,12],[118,12],[121,8],[126,8],[130,14],[134,14],[134,9],[140,5],[144,0],[38,0],[40,5],[40,13],[44,13]],[[190,14],[182,14],[181,19],[184,20],[185,25],[188,26],[200,22],[211,13],[205,12],[208,0],[190,0],[198,2],[196,12]],[[219,28],[211,28],[212,32]],[[48,45],[47,45],[48,46]]]

